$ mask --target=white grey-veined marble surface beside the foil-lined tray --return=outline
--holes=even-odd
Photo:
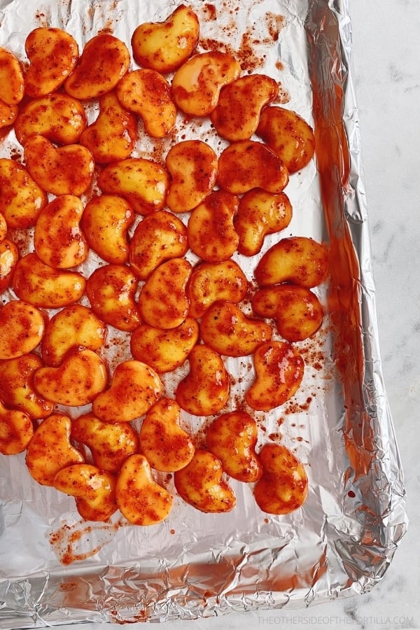
[[[350,3],[381,356],[405,469],[409,531],[370,594],[302,610],[166,622],[165,630],[420,629],[420,2]]]

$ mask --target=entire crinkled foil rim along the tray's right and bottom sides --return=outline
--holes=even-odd
[[[293,2],[290,0],[290,6]],[[164,622],[256,609],[301,608],[372,589],[384,576],[407,529],[405,489],[381,374],[367,202],[360,157],[358,110],[351,69],[348,0],[311,0],[304,22],[314,91],[318,174],[332,246],[330,303],[335,351],[342,366],[349,458],[347,510],[360,537],[325,514],[325,549],[307,575],[278,577],[279,549],[245,549],[149,576],[136,568],[78,573],[73,596],[63,580],[45,577],[0,584],[0,628],[76,622]],[[325,151],[322,147],[325,147]],[[345,334],[344,334],[344,331]],[[372,491],[374,489],[374,491]],[[1,524],[0,524],[1,525]],[[240,551],[240,550],[239,550]],[[216,567],[216,568],[215,568]],[[258,568],[265,575],[258,584]],[[210,575],[211,580],[204,576]],[[69,577],[69,580],[74,580]]]

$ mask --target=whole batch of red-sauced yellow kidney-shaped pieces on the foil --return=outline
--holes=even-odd
[[[293,344],[323,321],[311,288],[328,273],[325,246],[289,237],[261,254],[290,223],[283,191],[312,159],[314,135],[275,104],[273,78],[241,76],[230,52],[197,52],[199,38],[181,5],[139,25],[131,52],[102,33],[79,54],[53,27],[28,34],[25,69],[0,49],[0,126],[23,149],[22,163],[0,159],[0,291],[11,296],[0,309],[0,453],[26,451],[30,475],[73,496],[84,519],[165,519],[174,496],[155,471],[202,512],[235,506],[228,477],[252,484],[270,514],[307,496],[292,452],[269,443],[257,453],[253,412],[296,393],[304,360]],[[219,155],[183,139],[160,160],[135,156],[141,134],[167,141],[177,120],[203,117],[227,141]],[[31,246],[21,253],[22,230]],[[85,276],[90,251],[101,262]],[[235,252],[258,261],[257,290]],[[132,354],[112,377],[110,327],[130,335]],[[224,357],[242,356],[255,378],[232,409]],[[162,374],[184,364],[171,398]],[[207,422],[204,441],[181,428],[183,412]]]

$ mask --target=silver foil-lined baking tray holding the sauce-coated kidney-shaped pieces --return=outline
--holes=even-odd
[[[237,507],[229,514],[202,514],[176,498],[159,526],[118,517],[94,524],[80,520],[73,499],[35,484],[23,455],[0,456],[1,629],[163,622],[354,595],[381,580],[407,528],[379,358],[348,1],[189,4],[200,18],[199,50],[234,50],[244,72],[279,80],[286,106],[314,125],[316,160],[286,188],[286,236],[328,243],[330,279],[317,291],[328,316],[297,344],[306,363],[300,391],[260,419],[260,441],[281,440],[306,465],[309,496],[275,517],[260,512],[250,487],[232,482]],[[104,30],[130,48],[138,24],[163,20],[175,6],[0,0],[0,45],[25,63],[25,37],[48,25],[69,31],[80,49]],[[189,132],[218,141],[194,121]],[[137,147],[137,155],[148,152],[153,146]],[[21,153],[13,135],[3,139],[1,157]],[[237,374],[235,361],[228,367]]]

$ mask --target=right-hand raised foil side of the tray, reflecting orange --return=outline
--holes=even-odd
[[[342,331],[336,351],[346,402],[346,482],[363,498],[360,540],[342,535],[336,542],[346,573],[354,580],[342,594],[354,594],[369,591],[381,580],[407,530],[405,489],[381,372],[348,0],[312,1],[305,29],[311,41],[318,146],[332,148],[325,156],[318,152],[318,172],[328,227],[336,236],[332,260],[339,261],[332,265],[332,300]],[[337,48],[336,55],[331,47]],[[352,378],[355,373],[358,382]],[[376,491],[370,492],[372,488]]]

